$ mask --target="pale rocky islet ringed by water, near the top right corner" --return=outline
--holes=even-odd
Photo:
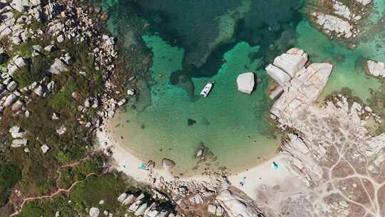
[[[322,1],[322,7],[329,7],[331,11],[326,14],[322,10],[315,9],[310,15],[325,34],[349,39],[359,34],[358,22],[366,16],[366,9],[370,3],[371,0],[356,0],[351,2],[351,5],[345,5],[340,0],[327,0]]]

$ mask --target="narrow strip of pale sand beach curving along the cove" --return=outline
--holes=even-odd
[[[116,162],[116,169],[122,171],[135,178],[137,181],[142,181],[145,183],[150,183],[150,171],[145,171],[140,169],[139,158],[130,153],[127,148],[120,146],[118,142],[114,142],[113,136],[110,135],[107,131],[107,126],[103,126],[103,131],[97,132],[97,138],[101,144],[101,148],[111,148],[113,151],[113,158]],[[275,169],[272,166],[272,162],[278,164],[278,168]],[[153,178],[163,177],[165,181],[173,181],[174,178],[169,171],[160,168],[154,168],[152,171]],[[230,175],[228,180],[232,183],[233,186],[240,188],[242,191],[247,193],[250,198],[257,198],[256,191],[263,184],[265,186],[275,186],[277,184],[282,184],[282,181],[287,177],[292,176],[292,174],[284,166],[284,158],[282,154],[278,154],[271,158],[270,160],[265,161],[264,163],[254,166],[247,171],[242,171],[236,175]],[[246,178],[245,178],[246,177]],[[245,184],[240,185],[240,181],[245,179]],[[208,176],[193,176],[190,178],[179,179],[184,181],[210,181]]]

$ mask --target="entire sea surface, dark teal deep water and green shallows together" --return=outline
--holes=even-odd
[[[176,171],[193,174],[191,168],[197,164],[194,153],[201,143],[217,159],[210,161],[210,165],[200,163],[200,170],[195,173],[221,166],[240,171],[272,156],[280,140],[279,136],[274,138],[274,128],[266,121],[271,103],[266,96],[270,79],[263,69],[275,56],[293,46],[307,51],[312,62],[328,61],[334,65],[323,97],[349,87],[366,101],[371,97],[370,89],[379,88],[378,80],[365,75],[363,63],[366,59],[385,61],[385,31],[382,24],[376,24],[385,14],[383,1],[374,1],[366,34],[356,41],[356,49],[328,39],[309,24],[298,6],[301,1],[221,2],[229,9],[216,7],[219,3],[215,1],[207,3],[209,8],[205,10],[217,15],[218,19],[210,21],[217,22],[219,30],[205,31],[202,28],[212,28],[212,24],[201,24],[193,30],[181,27],[183,21],[193,22],[188,28],[205,21],[194,19],[199,13],[194,13],[193,4],[183,19],[178,19],[178,13],[182,13],[179,11],[169,15],[178,21],[168,21],[165,17],[172,14],[170,11],[185,5],[163,1],[156,4],[163,11],[155,13],[152,1],[141,1],[135,5],[140,11],[135,21],[143,22],[138,17],[145,17],[148,23],[136,38],[130,28],[135,24],[127,21],[133,16],[133,5],[110,2],[118,7],[111,9],[108,29],[123,41],[125,49],[143,44],[153,54],[150,74],[138,81],[138,98],[111,121],[116,139],[143,161],[151,159],[159,165],[161,158],[172,158],[178,165]],[[201,6],[198,4],[196,10]],[[131,14],[123,16],[128,9]],[[268,9],[270,14],[261,14]],[[211,50],[212,44],[216,44],[216,49]],[[202,59],[206,62],[199,64]],[[237,75],[247,71],[262,79],[251,96],[236,88]],[[212,93],[207,99],[199,97],[209,81],[215,81]],[[195,124],[188,126],[188,119],[196,121]]]

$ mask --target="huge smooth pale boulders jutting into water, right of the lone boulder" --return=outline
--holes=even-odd
[[[304,51],[290,49],[266,68],[267,74],[278,84],[270,94],[271,99],[277,99],[270,113],[284,126],[292,126],[290,120],[317,100],[332,73],[331,64],[306,66],[307,61]]]

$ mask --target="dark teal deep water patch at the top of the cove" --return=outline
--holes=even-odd
[[[115,28],[123,38],[130,29],[140,29],[138,34],[159,34],[171,46],[183,48],[183,69],[173,72],[170,82],[193,96],[192,79],[215,76],[224,64],[223,55],[240,41],[260,46],[251,56],[251,61],[263,58],[260,67],[294,46],[303,4],[304,0],[130,0],[118,1],[111,14],[118,14]],[[242,6],[247,9],[240,14]],[[235,25],[221,25],[220,18],[229,11],[235,12],[225,23]],[[232,32],[230,38],[222,39],[223,31]],[[218,43],[212,47],[214,41]]]

